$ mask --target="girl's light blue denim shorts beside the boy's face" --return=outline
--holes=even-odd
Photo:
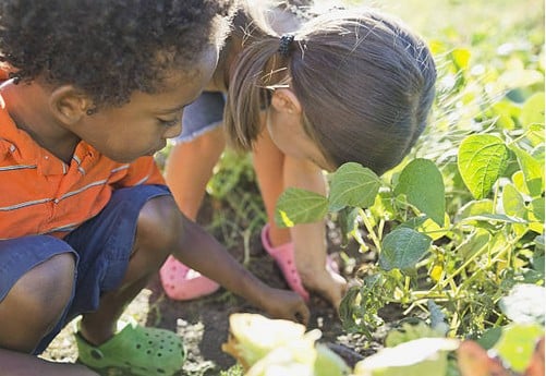
[[[182,133],[175,143],[187,143],[222,124],[226,97],[220,92],[203,92],[193,104],[184,109]]]

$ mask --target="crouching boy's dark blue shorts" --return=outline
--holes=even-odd
[[[31,235],[0,241],[0,302],[23,275],[52,256],[72,253],[76,260],[71,301],[59,323],[35,349],[35,354],[46,350],[74,317],[96,311],[102,293],[119,287],[133,251],[142,207],[150,198],[169,194],[165,185],[120,189],[96,217],[62,240]]]

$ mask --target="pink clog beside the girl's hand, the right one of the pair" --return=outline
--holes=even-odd
[[[294,243],[290,242],[274,247],[269,241],[269,225],[266,225],[262,230],[262,244],[279,266],[290,289],[300,294],[305,302],[308,302],[310,293],[303,287],[300,274],[295,268]]]

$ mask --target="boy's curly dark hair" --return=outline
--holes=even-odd
[[[0,60],[16,82],[39,76],[120,106],[160,89],[167,68],[190,71],[233,12],[234,0],[2,0]]]

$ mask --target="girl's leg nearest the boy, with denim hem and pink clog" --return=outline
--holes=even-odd
[[[221,93],[205,92],[187,106],[182,118],[182,134],[167,159],[167,185],[180,210],[193,221],[197,219],[213,169],[226,147],[221,126],[223,105]],[[173,256],[169,256],[159,275],[165,292],[174,300],[196,299],[219,288]]]

